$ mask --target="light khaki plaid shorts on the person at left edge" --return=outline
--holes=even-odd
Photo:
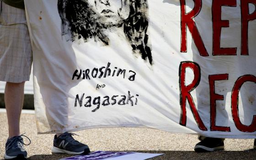
[[[32,50],[25,10],[0,0],[0,81],[29,80]]]

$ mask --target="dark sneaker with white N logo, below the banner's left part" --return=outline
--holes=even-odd
[[[86,144],[82,144],[75,140],[72,136],[75,133],[65,132],[57,138],[53,139],[52,153],[66,153],[69,155],[85,155],[90,153],[90,149]]]

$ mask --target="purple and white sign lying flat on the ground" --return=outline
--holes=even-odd
[[[107,158],[128,155],[135,152],[110,152],[110,151],[96,151],[89,155],[77,155],[74,157],[64,158],[61,160],[105,160]]]

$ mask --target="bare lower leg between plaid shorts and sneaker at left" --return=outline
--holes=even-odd
[[[24,84],[6,82],[5,108],[7,112],[9,138],[20,135],[20,117],[24,101]]]

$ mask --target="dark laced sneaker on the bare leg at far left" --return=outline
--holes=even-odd
[[[20,136],[12,137],[11,139],[7,139],[7,142],[5,144],[5,160],[11,160],[11,159],[26,160],[27,159],[27,152],[23,147],[24,142],[21,136],[26,137],[29,140],[29,144],[31,143],[30,139],[24,134],[21,134]],[[29,144],[24,144],[24,145],[29,145]]]

